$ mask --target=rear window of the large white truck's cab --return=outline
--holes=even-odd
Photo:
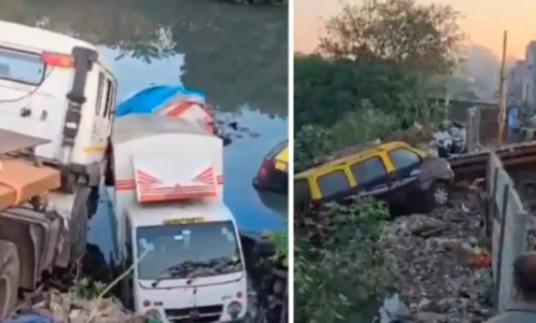
[[[45,63],[39,54],[0,47],[0,79],[30,85],[40,85]]]

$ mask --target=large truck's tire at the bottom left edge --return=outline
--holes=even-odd
[[[16,245],[0,240],[0,322],[10,315],[19,290],[20,262]]]

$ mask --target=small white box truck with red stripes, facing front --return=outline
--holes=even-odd
[[[113,233],[124,304],[164,322],[242,322],[247,274],[223,203],[223,143],[187,120],[115,121]]]

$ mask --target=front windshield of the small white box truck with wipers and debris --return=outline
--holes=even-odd
[[[139,279],[217,276],[243,271],[232,221],[138,227]]]

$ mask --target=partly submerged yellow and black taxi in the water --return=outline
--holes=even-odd
[[[289,141],[284,140],[269,151],[260,164],[253,187],[259,192],[289,192]]]

